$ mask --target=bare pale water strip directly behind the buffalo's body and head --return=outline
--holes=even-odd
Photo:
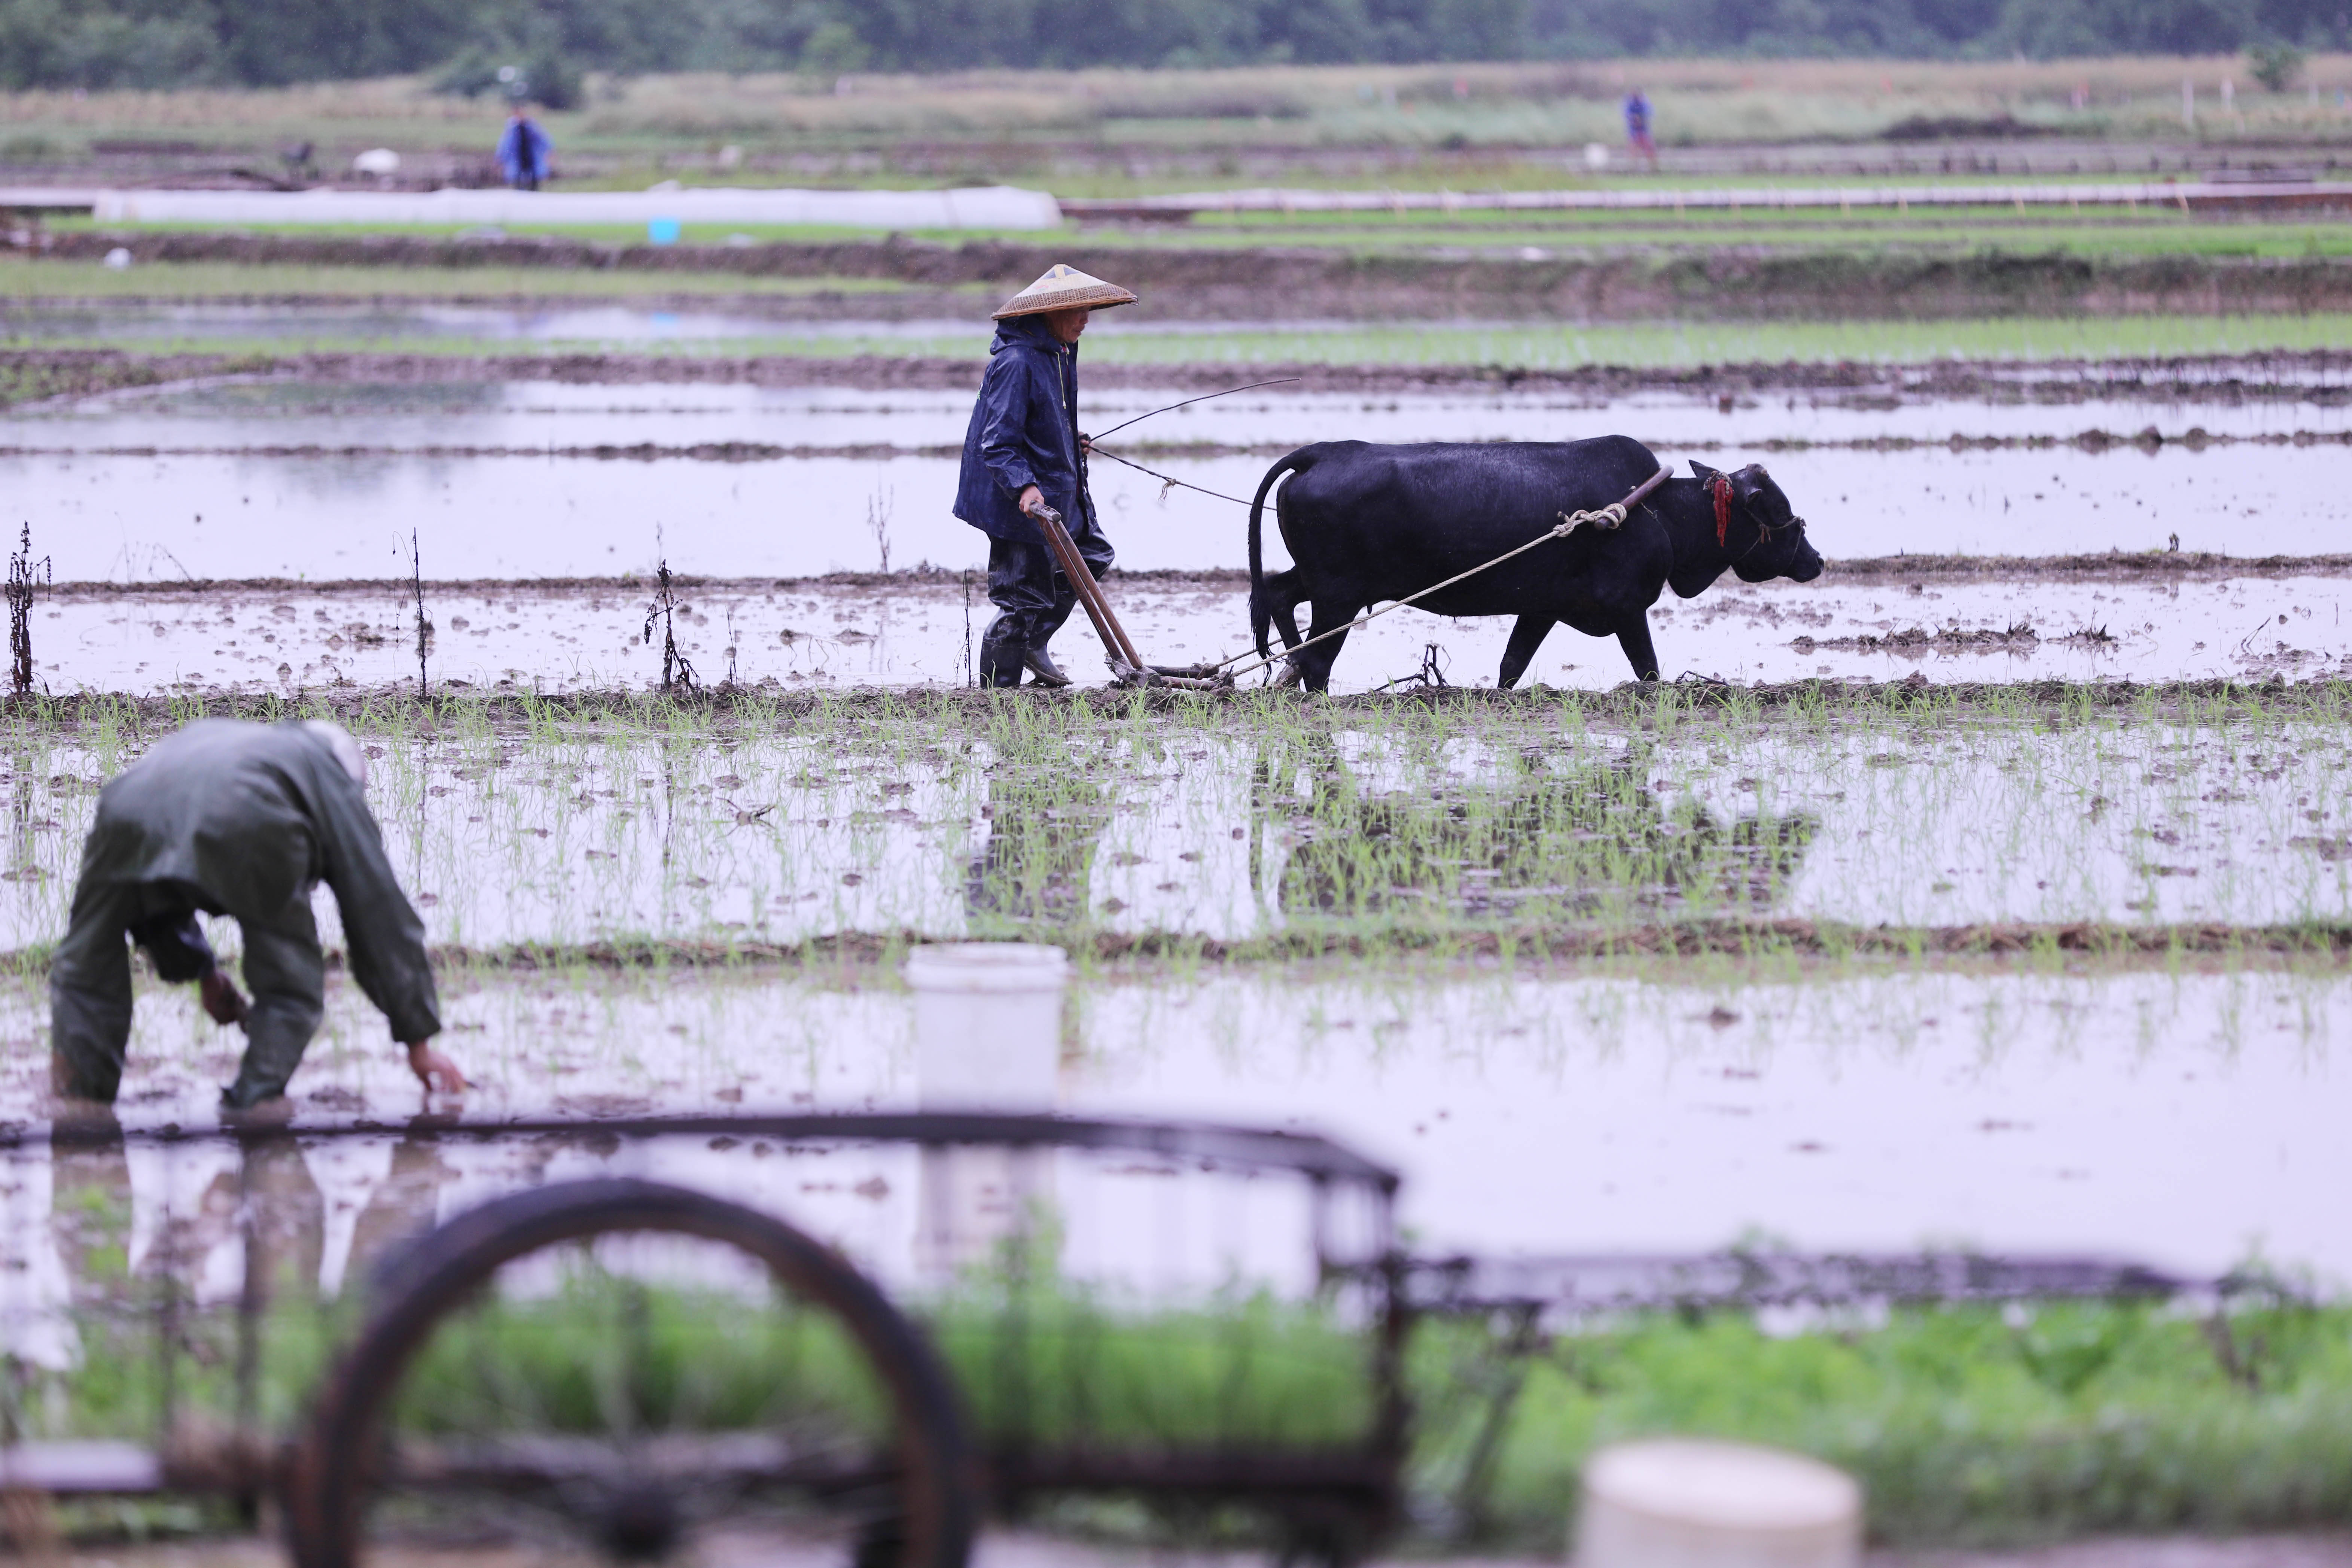
[[[1771,473],[1825,555],[2079,555],[2161,550],[2173,536],[2183,550],[2312,555],[2352,536],[2343,463],[2336,447],[1811,449],[1773,456]],[[1150,465],[1237,498],[1268,468]],[[884,552],[894,567],[988,557],[948,510],[946,456],[5,456],[0,487],[61,581],[405,576],[412,531],[440,578],[619,576],[656,557],[703,576],[875,571]],[[1235,501],[1110,463],[1094,496],[1131,569],[1247,564]],[[1270,559],[1284,562],[1279,538]]]

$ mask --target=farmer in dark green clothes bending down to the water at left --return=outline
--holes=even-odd
[[[169,983],[195,980],[205,1011],[245,1025],[245,1063],[221,1103],[282,1095],[327,1004],[310,893],[334,889],[350,973],[383,1009],[428,1088],[466,1074],[428,1041],[440,999],[426,929],[400,893],[367,811],[367,759],[341,724],[198,719],[99,792],[82,844],[73,926],[49,966],[49,1051],[59,1095],[113,1103],[132,1032],[125,938]],[[252,1006],[219,971],[195,912],[235,914]]]

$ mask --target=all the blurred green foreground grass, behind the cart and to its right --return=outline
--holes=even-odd
[[[1317,1450],[1369,1429],[1369,1345],[1317,1305],[1115,1309],[1061,1288],[1018,1300],[1007,1314],[1007,1298],[978,1288],[922,1309],[988,1446]],[[346,1321],[275,1314],[263,1427],[296,1418]],[[1559,1552],[1597,1446],[1684,1434],[1846,1467],[1872,1537],[1907,1547],[2352,1521],[2352,1309],[2253,1302],[2223,1321],[2161,1305],[1611,1316],[1534,1354],[1494,1465],[1472,1476],[1512,1363],[1486,1326],[1437,1319],[1409,1356],[1414,1516],[1484,1552]],[[200,1314],[191,1342],[200,1356],[181,1359],[179,1396],[216,1427],[233,1410],[230,1316]],[[153,1366],[132,1319],[85,1319],[75,1371],[19,1373],[19,1420],[38,1436],[146,1439]],[[426,1439],[882,1429],[875,1385],[807,1314],[609,1281],[477,1307],[428,1345],[402,1408]]]

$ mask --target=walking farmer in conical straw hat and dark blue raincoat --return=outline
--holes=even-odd
[[[1040,686],[1068,686],[1047,642],[1077,609],[1077,590],[1054,564],[1037,508],[1061,512],[1094,576],[1110,569],[1110,541],[1087,494],[1084,435],[1077,433],[1077,336],[1087,315],[1136,296],[1077,268],[1056,266],[1004,301],[988,348],[981,402],[964,433],[955,515],[988,534],[988,599],[997,618],[981,635],[981,684],[1018,686],[1028,668]]]

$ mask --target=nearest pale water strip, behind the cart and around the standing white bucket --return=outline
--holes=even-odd
[[[1063,1110],[1336,1133],[1404,1168],[1404,1220],[1425,1251],[1710,1248],[1762,1229],[1811,1248],[2091,1248],[2180,1269],[2260,1248],[2326,1279],[2352,1269],[2336,1197],[2352,1182],[2340,973],[1675,985],[1270,971],[1089,983],[1073,1006],[1068,1039],[1037,1041],[1058,1053]],[[0,1027],[31,1034],[40,997],[16,985],[0,1011]],[[449,1048],[482,1084],[468,1117],[891,1107],[924,1088],[910,1004],[887,985],[583,971],[459,980],[449,1018]],[[33,1053],[12,1058],[9,1119],[35,1110],[35,1067]],[[125,1114],[209,1119],[230,1067],[233,1037],[183,994],[148,994]],[[296,1105],[393,1128],[416,1110],[381,1020],[346,983]],[[365,1213],[400,1147],[388,1131],[358,1159],[308,1150],[329,1213]],[[903,1166],[844,1154],[811,1175],[753,1154],[703,1152],[691,1173],[863,1255],[889,1251],[913,1185]],[[515,1180],[494,1161],[400,1164],[412,1222]],[[870,1175],[884,1180],[858,1194]],[[132,1187],[153,1208],[165,1180],[134,1168]],[[1061,1192],[1080,1222],[1084,1194]],[[1176,1222],[1204,1218],[1160,1211],[1160,1227]]]

